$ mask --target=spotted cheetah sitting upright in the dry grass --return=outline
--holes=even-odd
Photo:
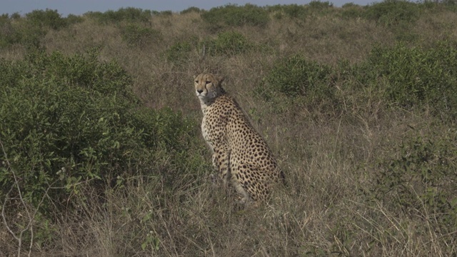
[[[264,202],[284,174],[266,141],[222,88],[222,81],[224,78],[214,74],[200,74],[194,79],[203,111],[201,132],[224,185],[231,183],[242,203]]]

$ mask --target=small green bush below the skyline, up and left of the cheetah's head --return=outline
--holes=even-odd
[[[160,31],[140,24],[122,26],[121,35],[129,46],[144,47],[162,40]]]

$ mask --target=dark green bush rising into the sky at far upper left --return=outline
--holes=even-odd
[[[29,14],[26,14],[26,19],[40,28],[49,27],[51,29],[57,30],[62,29],[68,25],[66,19],[61,18],[57,10],[46,9],[46,11],[31,11]]]

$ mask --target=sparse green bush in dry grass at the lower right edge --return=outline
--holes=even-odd
[[[457,131],[407,138],[392,156],[380,161],[372,191],[392,208],[431,215],[429,222],[446,234],[457,229]]]

